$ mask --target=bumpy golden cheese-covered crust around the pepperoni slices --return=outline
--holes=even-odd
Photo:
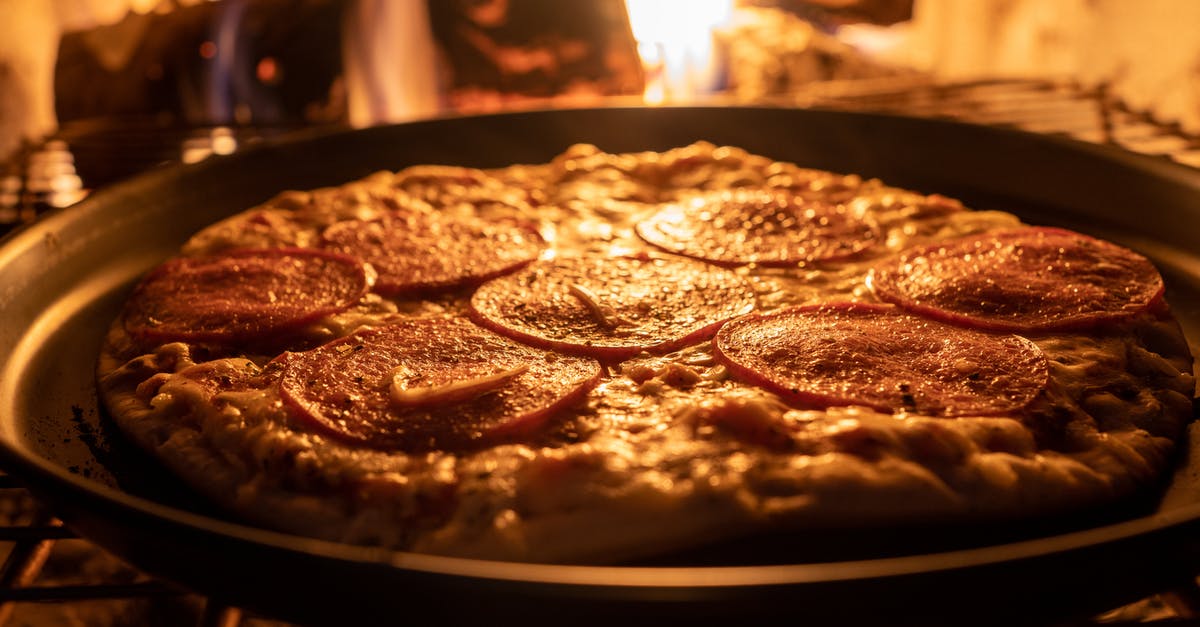
[[[691,167],[679,169],[684,161]],[[709,144],[661,155],[575,147],[545,166],[416,168],[288,192],[197,234],[182,253],[311,244],[329,223],[397,202],[533,215],[559,249],[613,251],[637,245],[632,216],[655,203],[734,183],[840,198],[870,211],[883,233],[870,258],[749,273],[760,311],[872,300],[863,285],[871,258],[1018,223]],[[371,294],[308,327],[289,350],[463,310],[462,294]],[[610,365],[587,402],[548,431],[463,454],[330,440],[298,424],[270,384],[212,393],[188,376],[217,368],[269,378],[274,354],[137,346],[120,320],[98,376],[104,405],[133,441],[254,524],[440,555],[595,563],[779,530],[1028,519],[1154,490],[1194,392],[1192,356],[1165,305],[1103,333],[1032,339],[1049,358],[1050,382],[1010,416],[792,408],[730,378],[701,342]]]

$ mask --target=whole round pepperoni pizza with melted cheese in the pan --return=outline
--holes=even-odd
[[[97,370],[242,520],[611,563],[1153,494],[1192,362],[1132,250],[701,142],[284,191],[143,276]]]

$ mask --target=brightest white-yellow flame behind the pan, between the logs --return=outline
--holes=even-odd
[[[734,0],[625,0],[646,70],[649,104],[689,100],[716,89],[713,31],[730,23]]]

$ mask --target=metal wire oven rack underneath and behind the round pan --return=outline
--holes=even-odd
[[[1200,167],[1200,136],[1177,124],[1133,111],[1103,86],[1055,80],[980,80],[938,84],[923,77],[816,83],[786,96],[790,106],[839,108],[949,118],[977,124],[1058,133]],[[112,130],[103,131],[112,132]],[[65,129],[48,143],[95,147],[102,133]],[[139,137],[142,137],[139,135]],[[170,136],[143,144],[131,155],[131,172],[180,155]],[[176,142],[178,144],[178,142]],[[128,143],[126,143],[128,145]],[[20,183],[24,163],[10,165],[0,185],[0,234],[48,205]],[[112,165],[109,165],[112,167]],[[118,177],[120,173],[108,173]],[[86,179],[86,175],[84,175]],[[86,187],[82,187],[86,191]],[[22,191],[19,195],[12,192]],[[198,627],[286,627],[220,599],[206,599],[175,584],[137,572],[102,549],[77,538],[10,476],[0,474],[0,627],[53,625],[196,625]],[[64,551],[65,547],[74,547]],[[61,553],[67,553],[61,556]],[[61,562],[61,563],[60,563]],[[94,567],[89,563],[98,562]],[[82,608],[82,609],[76,609]],[[98,609],[97,609],[98,608]],[[116,609],[114,609],[116,608]],[[89,614],[90,613],[90,614]],[[67,616],[64,620],[64,616]],[[74,621],[74,622],[71,622]],[[1054,627],[1165,625],[1200,627],[1200,586],[1163,591],[1100,616]],[[1031,617],[1031,625],[1037,623]]]

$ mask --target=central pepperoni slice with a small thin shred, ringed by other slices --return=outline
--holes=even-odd
[[[754,309],[750,285],[684,258],[568,257],[480,286],[480,324],[523,342],[601,359],[670,352]]]

